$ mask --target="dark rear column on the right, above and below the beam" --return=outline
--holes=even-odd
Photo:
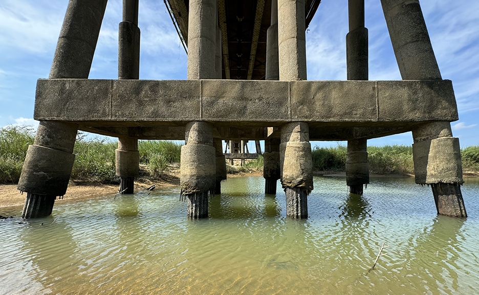
[[[349,0],[349,33],[346,35],[347,80],[368,80],[368,40],[364,27],[364,0]],[[346,185],[362,195],[369,183],[367,140],[347,141]]]

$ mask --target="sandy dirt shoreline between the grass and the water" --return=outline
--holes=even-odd
[[[246,173],[236,173],[228,174],[228,178],[232,177],[247,177],[247,176],[261,176],[263,171],[253,171]],[[338,171],[315,171],[314,176],[346,176],[345,172]],[[156,185],[157,188],[160,187],[169,187],[180,185],[180,171],[175,169],[175,171],[170,171],[163,175],[161,179],[158,180],[148,180],[148,179],[139,179],[135,181],[135,191],[144,190],[152,185]],[[378,175],[371,174],[372,177],[375,176],[388,176],[388,177],[413,177],[412,174],[392,174],[392,175]],[[464,177],[478,177],[477,173],[464,173]],[[87,181],[70,181],[68,185],[67,193],[63,196],[62,199],[57,199],[57,202],[62,202],[65,200],[75,200],[75,199],[88,199],[95,198],[104,195],[113,195],[118,192],[118,184],[99,184],[91,183]],[[15,207],[23,206],[25,203],[25,195],[22,195],[17,190],[16,184],[1,185],[0,184],[0,208],[6,207]]]

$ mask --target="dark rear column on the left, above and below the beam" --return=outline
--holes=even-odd
[[[118,79],[140,78],[140,29],[138,0],[123,0],[123,21],[118,27]],[[138,140],[118,139],[115,152],[116,174],[120,177],[119,192],[133,194],[139,170]]]

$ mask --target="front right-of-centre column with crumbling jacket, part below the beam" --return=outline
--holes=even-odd
[[[313,160],[308,124],[293,122],[282,125],[279,150],[281,185],[286,192],[286,215],[307,218],[307,197],[313,190]]]

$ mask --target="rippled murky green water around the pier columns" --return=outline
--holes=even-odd
[[[437,216],[412,178],[372,178],[363,197],[343,177],[314,186],[299,221],[286,218],[280,188],[262,193],[262,177],[228,179],[200,221],[186,218],[178,187],[0,220],[0,293],[479,293],[477,180],[463,186],[467,219]]]

